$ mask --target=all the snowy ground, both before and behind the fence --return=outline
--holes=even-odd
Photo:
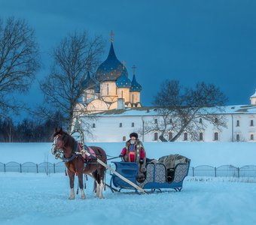
[[[122,143],[93,143],[117,156]],[[148,157],[182,154],[191,166],[256,165],[254,142],[145,142]],[[59,162],[51,143],[0,143],[2,163]],[[108,179],[109,179],[108,175]],[[63,173],[0,172],[0,224],[256,224],[256,178],[185,178],[176,193],[136,195],[105,191],[95,199],[87,181],[87,199],[69,200],[69,178]],[[75,181],[75,187],[77,181]]]

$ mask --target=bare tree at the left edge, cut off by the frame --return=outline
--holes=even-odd
[[[0,20],[0,115],[18,113],[22,104],[14,94],[26,92],[39,68],[34,30],[25,20]]]

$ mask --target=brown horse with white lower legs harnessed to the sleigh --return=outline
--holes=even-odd
[[[96,196],[102,199],[105,167],[99,163],[96,163],[96,157],[98,157],[104,163],[107,163],[107,156],[105,151],[102,148],[96,146],[89,146],[90,151],[92,149],[96,157],[92,156],[84,158],[81,154],[75,154],[75,151],[78,151],[78,142],[71,135],[69,135],[69,133],[64,132],[62,128],[60,128],[60,130],[55,129],[53,138],[53,145],[55,145],[53,154],[55,154],[56,151],[62,150],[66,159],[64,161],[68,169],[69,184],[71,188],[69,199],[75,199],[75,174],[78,175],[81,199],[85,199],[83,174],[93,175],[93,178],[96,181]],[[86,166],[84,166],[84,163],[86,163]]]

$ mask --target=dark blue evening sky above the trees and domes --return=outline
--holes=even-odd
[[[83,1],[0,0],[0,17],[25,18],[35,28],[44,67],[49,73],[51,49],[62,37],[83,29],[105,37],[114,31],[114,49],[133,65],[142,84],[142,104],[151,104],[163,80],[184,86],[214,83],[228,104],[248,104],[256,88],[256,1],[169,0]],[[23,97],[30,106],[41,103],[38,86]]]

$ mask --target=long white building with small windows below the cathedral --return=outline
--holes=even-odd
[[[206,129],[199,131],[203,142],[232,142],[232,141],[256,141],[256,105],[227,106],[221,113],[227,120],[227,127],[218,130],[208,121]],[[87,115],[81,117],[87,119]],[[124,110],[108,110],[96,114],[96,119],[91,123],[93,136],[87,136],[87,142],[121,142],[129,139],[129,134],[139,132],[139,138],[145,142],[160,141],[160,133],[143,132],[147,121],[161,119],[152,107]],[[175,133],[170,134],[170,137]],[[177,141],[190,141],[189,134],[183,133]]]

